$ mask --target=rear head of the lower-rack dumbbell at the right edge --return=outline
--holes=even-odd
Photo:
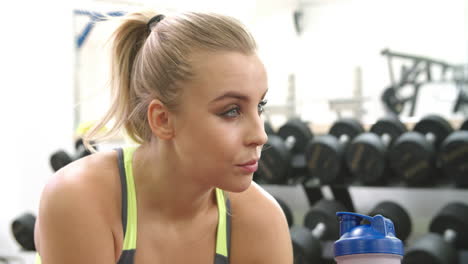
[[[468,205],[453,202],[444,206],[429,225],[430,232],[441,235],[447,229],[456,232],[456,248],[468,249]]]

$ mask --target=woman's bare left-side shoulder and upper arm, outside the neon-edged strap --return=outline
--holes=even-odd
[[[62,168],[46,184],[35,229],[43,263],[115,263],[116,162],[115,152],[96,153]]]

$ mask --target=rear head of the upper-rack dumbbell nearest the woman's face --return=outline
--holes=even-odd
[[[304,153],[307,143],[313,138],[309,125],[298,118],[290,119],[280,127],[278,135],[287,140],[292,136],[295,139],[291,153]]]

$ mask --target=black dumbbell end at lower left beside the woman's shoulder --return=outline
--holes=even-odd
[[[24,213],[13,220],[11,230],[13,237],[16,239],[21,248],[27,251],[35,251],[34,244],[34,225],[36,224],[36,216],[31,213]]]

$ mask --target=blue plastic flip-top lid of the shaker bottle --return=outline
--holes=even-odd
[[[393,222],[349,212],[336,213],[340,221],[340,239],[335,241],[335,257],[353,254],[396,254],[403,256],[403,243],[395,236]],[[362,224],[366,220],[369,224]]]

